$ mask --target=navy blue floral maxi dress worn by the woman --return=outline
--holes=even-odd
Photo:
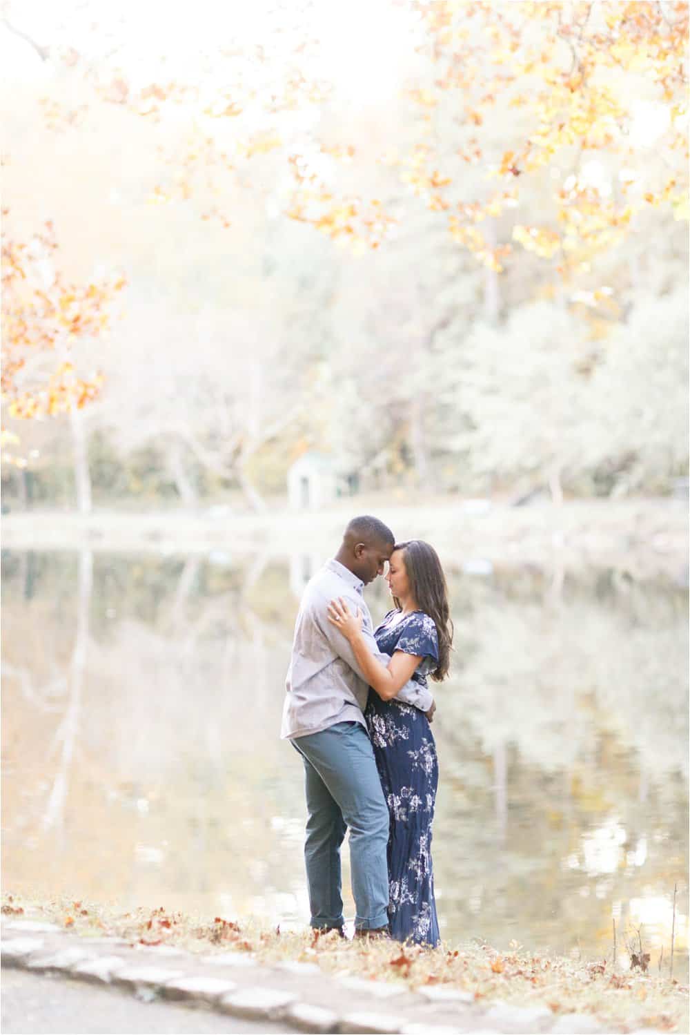
[[[439,662],[433,620],[421,611],[400,618],[389,611],[374,632],[379,650],[419,654],[413,679],[426,685]],[[412,705],[382,701],[369,689],[366,722],[381,785],[390,812],[388,914],[393,938],[420,945],[439,944],[433,897],[431,824],[439,786],[436,741],[426,715]]]

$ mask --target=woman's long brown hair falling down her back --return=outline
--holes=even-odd
[[[439,637],[439,664],[432,672],[431,679],[438,683],[445,679],[450,668],[450,652],[453,645],[453,623],[448,607],[448,586],[441,567],[441,561],[433,546],[421,539],[409,539],[408,542],[396,542],[393,552],[402,551],[404,569],[408,573],[410,592],[417,601],[417,607],[425,615],[433,619]],[[393,597],[393,602],[399,609],[400,602]]]

